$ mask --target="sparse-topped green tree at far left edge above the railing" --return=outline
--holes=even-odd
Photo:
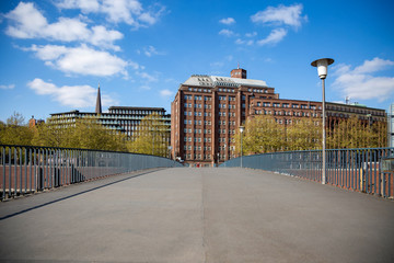
[[[7,123],[0,125],[0,144],[2,145],[24,145],[32,142],[33,130],[24,123],[24,117],[20,113],[13,113]]]

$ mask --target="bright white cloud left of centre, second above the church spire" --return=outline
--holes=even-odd
[[[26,48],[25,48],[26,50]],[[121,73],[127,77],[126,67],[136,67],[135,62],[127,62],[107,52],[100,52],[81,45],[80,47],[66,47],[56,45],[36,46],[27,50],[36,53],[47,66],[66,73],[114,76]]]

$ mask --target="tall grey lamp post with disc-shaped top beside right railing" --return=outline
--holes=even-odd
[[[325,128],[326,128],[326,123],[325,123],[325,83],[324,80],[327,77],[327,68],[328,65],[332,65],[334,62],[334,59],[332,58],[321,58],[317,60],[314,60],[311,65],[313,67],[317,68],[317,73],[318,77],[322,79],[322,90],[323,90],[323,98],[322,98],[322,107],[323,107],[323,149],[322,149],[322,153],[323,153],[323,167],[322,167],[322,184],[326,183],[326,151],[325,151],[325,144],[326,144],[326,136],[325,136]]]

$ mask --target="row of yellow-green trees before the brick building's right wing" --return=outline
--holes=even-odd
[[[234,136],[240,155],[240,132]],[[360,121],[357,116],[341,119],[326,129],[327,149],[386,147],[386,123]],[[322,119],[293,118],[279,124],[274,116],[248,118],[243,134],[243,155],[283,150],[322,149]]]

